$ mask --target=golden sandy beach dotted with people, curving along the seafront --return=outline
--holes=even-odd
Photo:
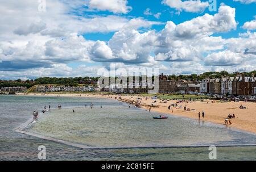
[[[23,94],[20,94],[23,95]],[[224,119],[229,114],[234,114],[236,118],[231,119],[231,123],[227,127],[234,127],[242,129],[248,132],[256,133],[256,103],[253,102],[216,102],[212,103],[212,100],[195,101],[195,102],[179,102],[177,100],[162,101],[160,99],[151,99],[151,97],[143,97],[139,95],[103,95],[103,94],[34,94],[30,93],[27,95],[36,96],[53,96],[53,97],[94,97],[94,98],[110,98],[117,99],[122,102],[130,103],[135,106],[144,108],[149,112],[151,111],[161,112],[164,114],[171,114],[177,116],[184,116],[187,118],[197,119],[199,118],[198,113],[202,114],[204,111],[204,119],[200,120],[210,121],[225,125]],[[156,101],[156,102],[155,102]],[[160,103],[161,102],[161,103]],[[168,106],[177,103],[177,107],[171,106],[168,110]],[[152,106],[153,104],[153,106]],[[245,109],[240,109],[240,105],[245,106]],[[185,111],[184,106],[190,111]]]

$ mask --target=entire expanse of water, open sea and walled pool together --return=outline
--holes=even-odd
[[[249,133],[176,116],[153,120],[155,114],[108,99],[0,95],[0,101],[0,160],[37,160],[39,145],[46,146],[47,160],[208,160],[205,147],[79,149],[13,131],[31,118],[32,111],[59,103],[63,109],[40,116],[28,130],[90,146],[255,144],[255,135]],[[93,110],[84,107],[90,102]],[[217,160],[256,160],[255,150],[217,147]]]

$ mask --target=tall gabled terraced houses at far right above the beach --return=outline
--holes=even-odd
[[[256,77],[222,77],[203,79],[200,83],[200,92],[209,94],[254,95],[256,94]]]

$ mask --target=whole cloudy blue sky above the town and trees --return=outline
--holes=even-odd
[[[0,79],[256,70],[256,0],[0,0],[0,16]]]

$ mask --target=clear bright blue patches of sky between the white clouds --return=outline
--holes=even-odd
[[[204,1],[207,2],[207,0],[204,0]],[[216,2],[217,2],[217,9],[221,5],[221,3],[225,3],[225,5],[236,8],[236,20],[238,22],[237,30],[230,31],[228,33],[223,33],[223,34],[216,34],[216,35],[221,35],[221,36],[224,36],[227,38],[238,36],[238,33],[246,32],[246,30],[243,30],[241,28],[243,23],[255,19],[254,16],[256,15],[256,3],[250,3],[250,5],[247,5],[245,3],[234,2],[232,0],[231,1],[230,0],[217,0]],[[128,14],[119,14],[119,15],[126,16],[127,18],[142,17],[147,20],[153,20],[153,21],[163,22],[163,23],[166,23],[171,20],[175,24],[179,24],[179,23],[185,22],[187,20],[196,18],[197,16],[201,16],[205,13],[212,14],[212,15],[217,13],[217,11],[209,11],[207,8],[207,9],[205,9],[204,12],[201,12],[201,13],[183,11],[183,12],[181,12],[180,15],[175,15],[174,14],[176,12],[175,9],[172,9],[167,5],[163,5],[161,3],[161,1],[157,1],[157,0],[128,1],[128,5],[133,7],[133,10],[131,10]],[[154,14],[156,14],[157,12],[161,12],[160,18],[156,19],[153,15],[144,15],[144,11],[147,8],[149,8],[150,11]],[[112,12],[108,12],[108,11],[85,12],[85,14],[87,14],[87,15],[88,14],[90,14],[90,15],[95,15],[95,14],[113,15]],[[152,26],[152,29],[154,29],[156,31],[160,31],[163,28],[164,28],[164,24]],[[113,34],[114,34],[114,32],[88,33],[88,34],[85,34],[84,37],[86,39],[91,39],[91,40],[108,41],[113,36]]]

